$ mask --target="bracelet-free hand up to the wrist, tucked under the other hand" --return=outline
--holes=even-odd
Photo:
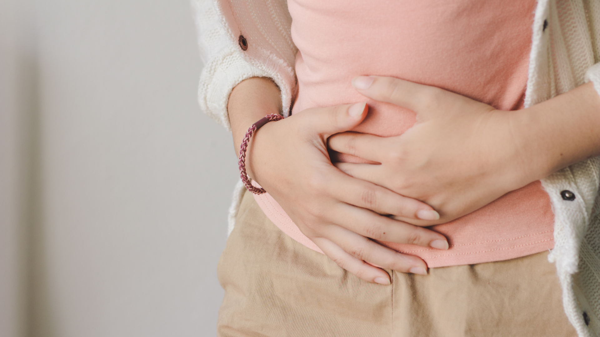
[[[396,137],[352,132],[330,137],[330,149],[381,163],[335,165],[440,213],[437,221],[410,221],[414,224],[459,218],[547,174],[523,143],[517,132],[522,129],[515,128],[518,111],[394,77],[359,76],[353,85],[366,97],[413,110],[416,123]]]

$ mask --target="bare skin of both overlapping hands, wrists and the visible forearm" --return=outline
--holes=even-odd
[[[369,238],[447,249],[441,234],[419,226],[458,218],[600,155],[600,98],[589,84],[518,112],[392,77],[360,77],[353,85],[365,97],[415,111],[415,126],[397,137],[349,133],[364,119],[364,105],[307,109],[257,131],[246,168],[302,233],[365,281],[389,284],[383,269],[365,261],[400,272],[427,267]],[[228,106],[236,153],[251,124],[280,110],[271,80],[239,83]],[[381,165],[333,166],[328,146]]]

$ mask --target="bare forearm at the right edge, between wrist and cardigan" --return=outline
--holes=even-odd
[[[600,155],[600,97],[592,83],[514,116],[533,179]]]

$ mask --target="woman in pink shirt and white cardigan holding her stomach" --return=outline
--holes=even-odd
[[[492,329],[499,335],[514,329],[523,335],[532,335],[526,328],[531,328],[532,324],[516,324],[516,317],[531,317],[540,308],[556,309],[557,299],[560,303],[558,279],[549,276],[547,266],[541,263],[545,259],[545,248],[553,248],[550,258],[556,261],[566,316],[579,335],[586,335],[589,329],[597,331],[598,303],[591,299],[598,291],[594,288],[598,281],[593,276],[598,267],[590,267],[594,266],[590,261],[599,253],[598,220],[592,212],[598,191],[598,161],[581,162],[599,154],[598,95],[592,83],[581,85],[586,71],[593,84],[598,76],[598,67],[592,67],[598,61],[594,56],[598,53],[589,47],[597,45],[592,41],[593,37],[599,36],[594,31],[598,28],[593,26],[595,18],[600,17],[595,2],[560,4],[558,7],[547,1],[510,5],[456,1],[451,4],[454,7],[439,7],[431,1],[419,4],[370,2],[363,7],[356,4],[344,7],[334,1],[290,1],[292,34],[289,34],[286,4],[217,2],[217,12],[211,4],[205,5],[203,8],[203,4],[198,4],[198,22],[201,40],[212,46],[208,48],[212,55],[209,55],[203,72],[200,101],[206,112],[221,113],[220,121],[226,125],[230,121],[236,145],[241,143],[247,128],[262,116],[280,109],[289,111],[292,92],[296,88],[294,67],[298,75],[298,95],[294,98],[292,118],[266,124],[256,133],[248,149],[246,169],[249,175],[272,196],[257,197],[262,209],[289,237],[325,252],[359,278],[392,283],[389,289],[372,288],[358,279],[349,279],[344,273],[338,273],[339,270],[331,269],[329,261],[323,260],[322,255],[307,251],[272,228],[252,237],[272,223],[264,224],[264,220],[256,219],[264,215],[246,196],[242,204],[245,215],[238,214],[238,221],[243,218],[244,225],[238,222],[238,233],[234,231],[230,237],[220,265],[220,279],[226,288],[220,315],[222,335],[311,333],[299,328],[307,322],[311,322],[316,331],[329,327],[322,333],[324,335],[361,335],[365,331],[394,331],[407,335],[464,335],[470,331],[487,335],[489,330],[485,329]],[[396,7],[400,10],[394,12],[398,10]],[[528,17],[526,14],[533,10],[535,17]],[[586,22],[584,10],[589,12],[591,23]],[[403,16],[407,13],[410,15]],[[506,13],[511,14],[505,20],[497,19]],[[223,20],[223,31],[215,22],[206,20],[211,17]],[[527,22],[528,19],[531,21]],[[398,26],[399,20],[402,24],[410,24]],[[510,24],[506,25],[506,22]],[[531,23],[532,29],[529,28]],[[515,30],[514,26],[521,30]],[[337,28],[340,30],[335,31]],[[387,28],[395,29],[392,29],[391,37],[386,36],[389,35]],[[485,32],[486,28],[491,33],[484,34],[487,37],[484,40],[478,40],[482,36],[479,32]],[[522,36],[521,39],[518,37],[526,28],[530,30],[527,43],[523,43]],[[323,33],[334,31],[337,34]],[[225,34],[229,34],[229,39]],[[431,38],[436,35],[442,36],[437,40]],[[396,40],[406,44],[409,52],[402,54],[403,45],[395,45]],[[449,40],[452,43],[443,46]],[[354,49],[337,52],[349,44]],[[480,44],[484,45],[479,48]],[[511,48],[505,50],[511,50],[515,55],[497,57],[497,54],[485,53],[508,45]],[[300,49],[298,55],[295,46]],[[368,53],[356,52],[362,46],[373,52],[370,58],[365,56]],[[431,55],[426,52],[415,53],[419,48],[428,50],[439,46],[441,52],[431,53],[434,57],[431,59],[427,59]],[[469,54],[469,60],[472,61],[472,72],[477,76],[470,78],[469,67],[457,64],[455,60],[460,58],[448,56],[453,47],[460,52],[476,51]],[[392,52],[394,58],[389,57]],[[346,58],[347,55],[352,57]],[[504,62],[507,66],[493,68],[485,64],[486,59]],[[445,67],[427,74],[426,61],[436,67],[438,64]],[[411,67],[407,66],[409,64]],[[523,64],[526,67],[523,68]],[[335,70],[329,70],[329,67]],[[511,71],[508,74],[498,72],[504,68]],[[448,78],[440,79],[443,76],[437,74],[447,70],[450,70],[445,73]],[[504,76],[498,77],[498,88],[493,87],[497,76],[490,76],[490,73]],[[395,75],[450,89],[487,104],[433,86],[391,77],[356,77],[353,84],[357,91],[351,92],[350,79],[359,75]],[[492,88],[491,91],[477,88],[477,80],[486,76],[487,81],[481,83],[486,89]],[[277,86],[257,77],[269,77]],[[454,86],[453,80],[460,83]],[[574,89],[576,86],[578,88]],[[490,92],[496,94],[487,96]],[[548,100],[562,93],[565,94]],[[361,97],[369,98],[371,110],[368,115],[365,104],[360,103],[365,98]],[[352,108],[347,104],[357,101],[358,105]],[[342,103],[346,105],[315,109]],[[521,108],[526,108],[520,111],[523,113],[500,113]],[[411,125],[415,116],[410,115],[410,110],[417,113],[414,127]],[[578,112],[577,115],[567,114],[573,110]],[[394,118],[397,119],[394,121]],[[515,128],[515,125],[520,127]],[[329,137],[348,130],[385,138],[365,134]],[[409,132],[404,133],[406,130]],[[465,137],[466,134],[469,137]],[[331,150],[346,154],[334,155],[334,161],[355,162],[335,164],[348,175],[335,169],[329,161],[327,139]],[[356,156],[349,156],[352,154]],[[374,162],[381,165],[356,165]],[[565,166],[569,168],[553,173]],[[542,178],[547,194],[536,182]],[[523,201],[526,205],[519,209],[518,205]],[[553,215],[548,212],[551,206],[554,207]],[[455,222],[449,222],[452,220]],[[247,225],[251,222],[261,223]],[[430,230],[416,226],[432,224],[440,225]],[[512,227],[502,227],[502,224]],[[515,231],[520,230],[524,230],[523,235],[515,236]],[[586,239],[583,240],[584,236]],[[379,240],[382,245],[367,237]],[[446,238],[450,243],[448,250]],[[473,238],[479,241],[473,242]],[[509,245],[503,246],[505,242]],[[430,246],[431,249],[403,246],[407,243]],[[470,243],[477,243],[481,249],[473,250]],[[530,249],[523,249],[524,246]],[[273,251],[273,247],[277,249]],[[256,251],[269,254],[258,257],[253,254]],[[459,254],[468,258],[455,258]],[[244,260],[250,255],[254,260]],[[240,272],[244,268],[250,269],[248,266],[253,261],[256,266],[252,273]],[[389,270],[392,279],[384,270],[363,261]],[[298,270],[278,273],[289,266],[309,273]],[[422,274],[427,266],[443,268],[431,269],[430,275],[426,276],[397,273]],[[581,271],[575,274],[578,266]],[[532,269],[535,269],[534,273],[525,275],[524,270]],[[472,270],[477,271],[475,278]],[[235,278],[239,275],[247,279],[239,281]],[[285,282],[277,282],[278,278]],[[483,279],[487,282],[512,281],[485,287]],[[536,279],[538,282],[533,281]],[[574,282],[582,288],[577,300]],[[296,287],[284,287],[285,284]],[[447,287],[448,284],[452,287]],[[465,284],[470,289],[454,287]],[[555,284],[556,288],[541,289],[544,287],[540,284]],[[302,291],[294,294],[292,289],[298,288]],[[343,291],[335,293],[336,288]],[[498,288],[507,293],[493,295]],[[464,296],[453,297],[470,290],[476,293],[471,300]],[[538,290],[542,292],[536,293]],[[319,300],[305,296],[311,291],[326,293],[326,296],[316,296]],[[399,291],[410,296],[398,300],[393,294]],[[361,311],[349,301],[349,293],[370,299],[370,302],[367,301],[369,304]],[[458,301],[464,308],[452,312],[446,306],[449,301],[440,301],[439,296],[452,299],[453,303]],[[503,303],[505,297],[511,298],[511,305]],[[548,297],[550,302],[535,302],[539,297]],[[488,301],[493,305],[482,308],[482,299],[493,299]],[[265,303],[254,307],[242,305],[250,302]],[[348,306],[356,309],[349,310]],[[278,309],[273,311],[272,308]],[[310,314],[304,308],[313,311],[320,308],[321,311]],[[257,311],[261,314],[257,315]],[[494,314],[496,311],[518,314],[503,314],[500,319]],[[242,315],[244,312],[245,316]],[[393,312],[396,314],[388,315]],[[265,315],[272,317],[261,319]],[[533,324],[533,327],[540,335],[549,331],[569,335],[572,327],[565,324],[564,314],[560,315],[557,311],[548,313],[547,321],[535,320],[538,323],[544,321],[544,324]],[[245,318],[241,321],[254,323],[234,324],[233,317],[237,321]],[[352,317],[369,319],[358,324]],[[391,318],[386,321],[385,317]],[[482,327],[475,323],[479,321],[495,323],[491,327]],[[556,324],[549,324],[550,321]],[[348,333],[344,333],[344,329],[349,329]]]

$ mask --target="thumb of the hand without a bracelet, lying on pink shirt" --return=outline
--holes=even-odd
[[[376,101],[388,102],[422,113],[440,106],[449,91],[386,76],[357,76],[352,85],[358,92]]]

